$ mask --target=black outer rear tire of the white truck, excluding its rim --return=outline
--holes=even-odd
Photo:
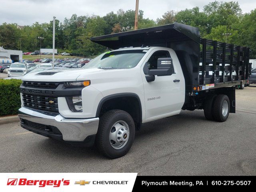
[[[225,116],[223,116],[223,114],[222,114],[222,106],[223,106],[224,101],[226,101],[228,103],[228,111]],[[228,118],[229,112],[230,112],[230,101],[229,101],[228,96],[218,95],[216,97],[216,99],[214,100],[213,108],[212,108],[212,115],[214,117],[214,120],[216,120],[218,122],[226,121]]]

